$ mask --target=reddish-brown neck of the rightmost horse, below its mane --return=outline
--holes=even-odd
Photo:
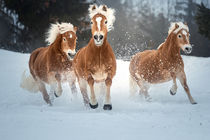
[[[180,48],[177,46],[176,40],[171,34],[167,37],[163,47],[160,48],[160,52],[168,61],[174,61],[181,57]]]

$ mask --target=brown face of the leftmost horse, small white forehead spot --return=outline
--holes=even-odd
[[[68,31],[62,34],[61,49],[71,59],[76,54],[76,51],[75,51],[76,41],[77,41],[77,36],[74,32]]]

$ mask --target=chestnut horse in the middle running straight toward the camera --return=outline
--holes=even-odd
[[[74,57],[73,66],[77,76],[84,104],[92,109],[98,107],[94,83],[106,85],[104,110],[111,110],[110,87],[116,74],[116,58],[112,47],[107,41],[107,33],[113,28],[115,11],[106,5],[90,5],[92,38],[87,46],[81,48]],[[90,87],[90,100],[87,94],[87,84]]]

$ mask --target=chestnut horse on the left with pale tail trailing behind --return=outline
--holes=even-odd
[[[68,82],[76,94],[76,75],[73,71],[73,57],[76,48],[76,31],[71,23],[51,24],[47,32],[47,47],[34,50],[29,59],[30,75],[22,75],[21,87],[30,92],[42,93],[43,99],[52,105],[54,96],[62,94],[62,82]],[[50,85],[49,95],[45,85]]]

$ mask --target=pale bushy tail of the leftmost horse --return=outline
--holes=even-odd
[[[32,93],[37,93],[39,91],[38,82],[33,78],[31,74],[26,76],[26,70],[22,74],[20,87]]]

